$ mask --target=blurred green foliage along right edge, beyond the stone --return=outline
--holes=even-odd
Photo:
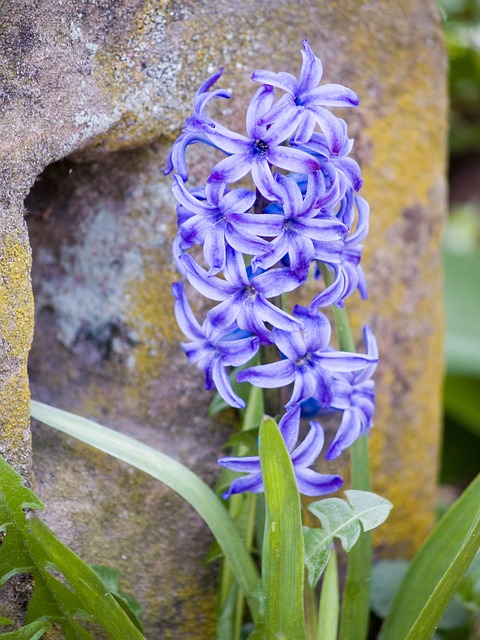
[[[480,157],[480,2],[439,0],[450,58],[450,166],[457,179]],[[463,168],[462,168],[463,167]],[[453,203],[444,237],[447,335],[441,482],[480,469],[480,181]]]

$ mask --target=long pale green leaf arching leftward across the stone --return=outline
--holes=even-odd
[[[34,400],[30,412],[40,422],[128,462],[182,496],[209,526],[246,595],[252,616],[257,617],[258,571],[225,507],[208,485],[180,462],[113,429]]]

